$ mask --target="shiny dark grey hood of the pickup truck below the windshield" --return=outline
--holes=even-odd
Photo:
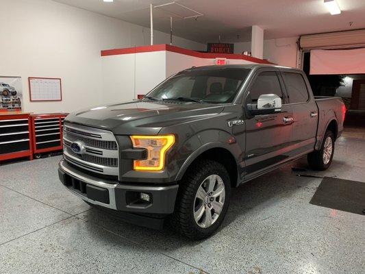
[[[132,101],[73,112],[65,121],[111,130],[116,135],[155,135],[163,127],[214,116],[223,108],[206,103]]]

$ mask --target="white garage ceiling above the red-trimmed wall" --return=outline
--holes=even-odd
[[[173,0],[54,0],[90,10],[123,21],[149,27],[149,4],[160,5]],[[265,39],[335,32],[365,28],[364,0],[337,0],[341,14],[331,15],[323,0],[179,0],[178,3],[204,14],[195,19],[182,19],[161,8],[153,10],[153,27],[197,42],[247,42],[251,25],[264,28]],[[170,9],[169,9],[170,10]],[[171,10],[170,10],[171,11]],[[186,10],[173,10],[182,16]],[[352,22],[352,25],[350,25]]]

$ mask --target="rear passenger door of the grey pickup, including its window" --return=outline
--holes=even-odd
[[[288,103],[294,118],[292,127],[293,156],[310,152],[316,143],[318,107],[309,83],[299,71],[282,71]]]

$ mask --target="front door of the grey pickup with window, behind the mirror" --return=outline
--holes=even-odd
[[[281,112],[251,115],[246,111],[246,153],[244,155],[245,179],[284,162],[290,156],[292,138],[292,108],[287,103],[284,84],[274,70],[257,71],[251,82],[244,105],[257,103],[260,95],[276,94],[281,97]],[[247,110],[247,107],[246,107]]]

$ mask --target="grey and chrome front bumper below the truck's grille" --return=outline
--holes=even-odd
[[[123,212],[146,214],[171,214],[175,208],[178,185],[146,186],[121,184],[109,179],[99,179],[83,173],[65,160],[58,169],[60,180],[68,190],[84,201],[102,208]],[[150,201],[138,201],[140,192],[146,193]]]

